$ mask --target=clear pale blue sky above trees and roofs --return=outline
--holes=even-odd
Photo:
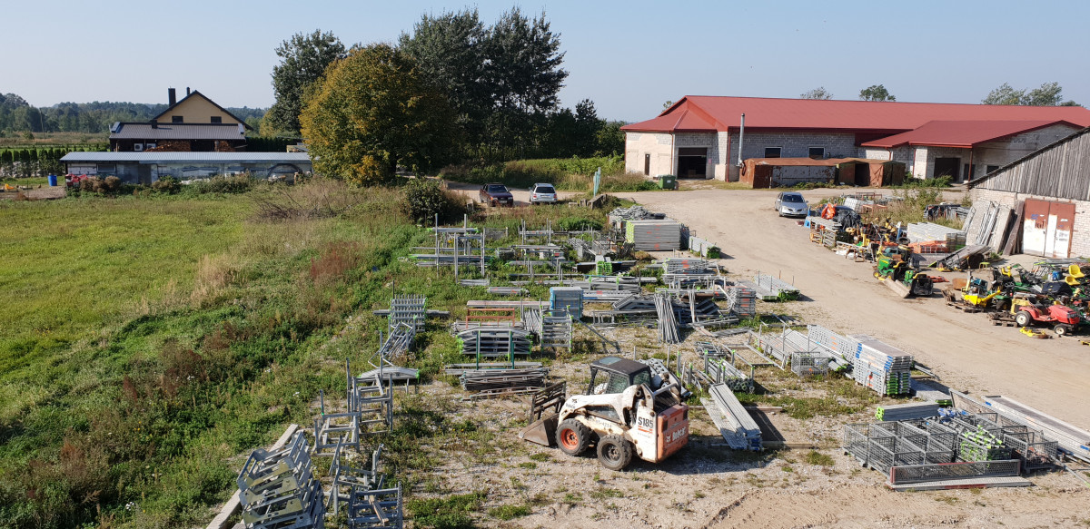
[[[9,1],[0,22],[0,93],[36,106],[166,102],[199,89],[225,107],[272,103],[276,46],[298,32],[346,45],[393,41],[421,13],[510,1]],[[564,106],[639,121],[683,95],[837,99],[883,84],[900,101],[979,102],[1003,83],[1058,82],[1090,104],[1090,2],[693,1],[522,2],[545,10],[570,73]]]

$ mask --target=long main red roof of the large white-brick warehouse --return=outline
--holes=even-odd
[[[1082,107],[1012,107],[1002,104],[915,103],[897,101],[840,101],[833,99],[773,99],[759,97],[686,96],[658,118],[621,127],[629,132],[680,132],[692,126],[685,115],[695,114],[715,131],[738,130],[746,113],[746,128],[807,128],[872,131],[896,134],[932,121],[1066,121],[1090,126],[1090,110]]]

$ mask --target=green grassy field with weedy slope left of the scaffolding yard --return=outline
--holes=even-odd
[[[344,358],[364,366],[377,348],[385,320],[370,310],[388,306],[391,280],[429,307],[485,297],[399,260],[432,241],[399,200],[314,182],[0,202],[0,527],[206,521],[234,488],[232,457],[310,423],[319,389],[343,394]],[[405,361],[426,374],[457,357],[444,322],[419,350]],[[422,463],[416,438],[474,434],[404,404],[412,420],[384,458],[393,473]]]

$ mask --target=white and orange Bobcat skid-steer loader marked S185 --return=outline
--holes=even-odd
[[[689,406],[674,374],[626,358],[607,356],[591,362],[585,395],[572,395],[558,414],[543,416],[520,438],[545,446],[555,440],[577,456],[592,444],[598,462],[620,470],[635,455],[658,463],[689,442]]]

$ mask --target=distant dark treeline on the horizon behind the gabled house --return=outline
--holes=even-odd
[[[15,94],[0,95],[0,133],[105,133],[116,121],[148,121],[167,106],[120,101],[89,103],[62,102],[52,107],[32,107]],[[266,109],[228,108],[232,114],[257,128]]]

